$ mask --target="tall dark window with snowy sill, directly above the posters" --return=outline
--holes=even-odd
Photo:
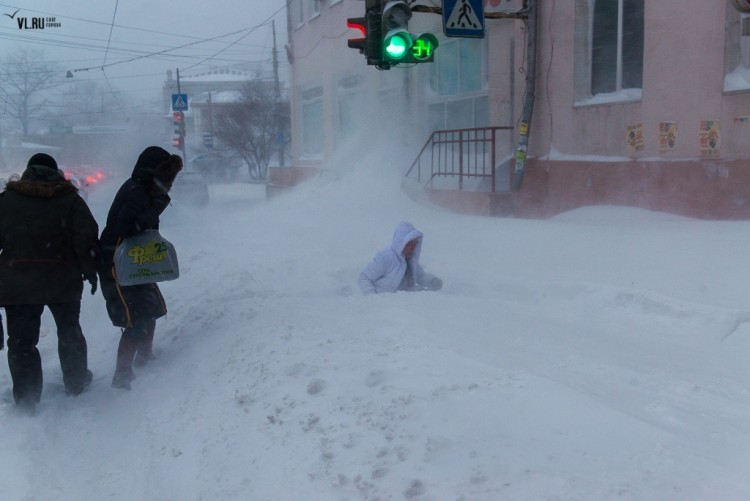
[[[591,95],[643,87],[644,0],[595,0]]]

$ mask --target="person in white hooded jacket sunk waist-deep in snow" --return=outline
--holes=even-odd
[[[419,264],[421,252],[422,232],[411,223],[400,222],[391,245],[378,252],[359,274],[359,288],[364,294],[440,289],[443,281]]]

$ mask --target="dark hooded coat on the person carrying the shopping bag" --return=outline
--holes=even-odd
[[[139,319],[160,318],[167,313],[156,284],[117,285],[114,254],[123,238],[159,229],[159,216],[171,200],[168,191],[181,169],[179,156],[157,146],[146,148],[109,209],[100,238],[99,280],[110,320],[117,327],[132,327]]]

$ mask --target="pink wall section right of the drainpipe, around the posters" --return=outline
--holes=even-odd
[[[575,2],[540,2],[530,159],[520,192],[494,196],[502,202],[490,213],[546,217],[616,204],[750,218],[750,92],[724,92],[726,16],[739,16],[730,4],[645,2],[641,99],[582,104],[575,99]],[[702,120],[720,123],[718,153],[701,151]],[[677,123],[672,151],[660,148],[664,121]],[[639,151],[626,140],[637,124]]]

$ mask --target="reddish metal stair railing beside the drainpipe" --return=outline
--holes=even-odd
[[[491,191],[496,187],[497,159],[504,149],[511,146],[510,140],[503,148],[498,131],[512,131],[513,127],[478,127],[434,131],[405,176],[409,177],[416,168],[418,182],[426,176],[429,165],[429,178],[425,185],[434,187],[438,178],[457,178],[458,189],[463,190],[467,179],[489,181]],[[510,139],[510,132],[509,139]],[[511,146],[512,147],[512,146]],[[501,150],[502,148],[502,150]],[[423,159],[429,155],[429,159]],[[422,167],[425,166],[423,174]]]

